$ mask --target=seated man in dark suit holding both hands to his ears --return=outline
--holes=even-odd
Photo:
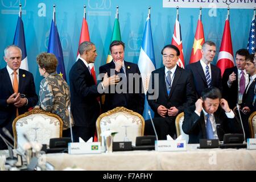
[[[199,143],[200,139],[221,141],[226,133],[242,133],[228,102],[215,87],[205,89],[195,106],[184,110],[182,129],[189,135],[188,143]]]

